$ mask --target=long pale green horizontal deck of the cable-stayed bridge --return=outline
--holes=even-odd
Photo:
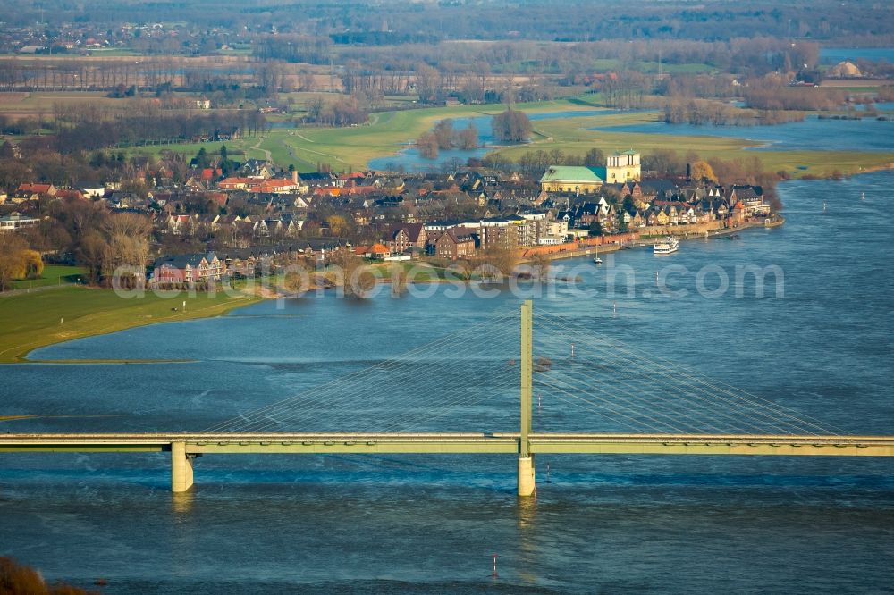
[[[532,433],[534,454],[784,455],[894,457],[894,436],[772,434]],[[161,452],[188,454],[468,453],[518,454],[518,433],[277,432],[0,434],[0,452]]]

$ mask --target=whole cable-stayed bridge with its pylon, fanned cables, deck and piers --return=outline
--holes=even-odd
[[[505,454],[530,496],[541,454],[891,457],[894,436],[841,432],[528,301],[201,431],[0,434],[0,452],[72,451],[170,452],[173,491],[211,454]]]

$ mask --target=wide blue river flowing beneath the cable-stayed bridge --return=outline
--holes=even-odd
[[[622,250],[599,269],[561,262],[579,267],[559,273],[578,283],[544,289],[536,311],[651,354],[606,354],[611,365],[593,368],[606,381],[662,356],[841,432],[894,433],[892,187],[892,172],[786,183],[785,226],[687,241],[672,256]],[[784,295],[772,283],[763,298],[749,282],[714,291],[747,264],[779,267]],[[678,265],[668,291],[685,295],[654,289],[668,265]],[[716,266],[699,292],[705,265]],[[606,294],[612,267],[629,267],[632,295]],[[0,415],[42,417],[0,428],[200,430],[479,325],[413,383],[387,373],[352,389],[341,381],[333,386],[350,390],[331,403],[311,393],[272,423],[511,431],[516,372],[503,358],[514,335],[504,329],[515,322],[493,321],[519,297],[435,289],[271,301],[39,349],[33,358],[192,361],[5,365]],[[577,339],[536,327],[550,332],[548,373],[563,373],[559,352]],[[592,355],[578,345],[578,357]],[[537,428],[612,429],[559,393],[538,394]],[[451,406],[458,395],[466,400]],[[0,455],[0,555],[50,579],[105,577],[108,593],[864,593],[894,584],[890,459],[552,456],[537,460],[537,480],[536,499],[519,501],[510,456],[208,456],[195,490],[174,497],[164,455]]]

